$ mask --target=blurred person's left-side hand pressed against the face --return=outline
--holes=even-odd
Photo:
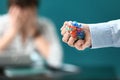
[[[10,9],[9,14],[10,14],[10,27],[14,28],[14,30],[16,31],[21,30],[27,21],[24,11],[18,7],[13,7]]]

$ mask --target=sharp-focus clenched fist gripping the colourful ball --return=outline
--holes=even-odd
[[[66,24],[70,22],[65,22],[63,27],[61,28],[61,34],[63,35],[63,42],[67,43],[71,47],[75,47],[78,50],[84,50],[91,46],[91,35],[88,25],[83,25],[83,30],[85,32],[85,39],[77,39],[71,37],[70,33],[66,31]]]

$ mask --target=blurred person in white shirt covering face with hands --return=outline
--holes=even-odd
[[[37,55],[45,59],[47,68],[67,69],[62,62],[63,50],[56,35],[54,24],[39,18],[37,7],[41,0],[8,0],[9,10],[0,16],[0,51],[14,51]],[[36,62],[39,62],[37,55]],[[38,59],[37,59],[38,58]]]

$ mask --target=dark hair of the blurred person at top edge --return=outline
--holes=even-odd
[[[38,7],[41,0],[8,0],[8,7],[13,5],[20,8]]]

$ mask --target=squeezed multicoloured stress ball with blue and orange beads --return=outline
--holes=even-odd
[[[83,25],[73,21],[66,24],[66,30],[71,34],[73,38],[84,39],[85,34],[83,31]]]

